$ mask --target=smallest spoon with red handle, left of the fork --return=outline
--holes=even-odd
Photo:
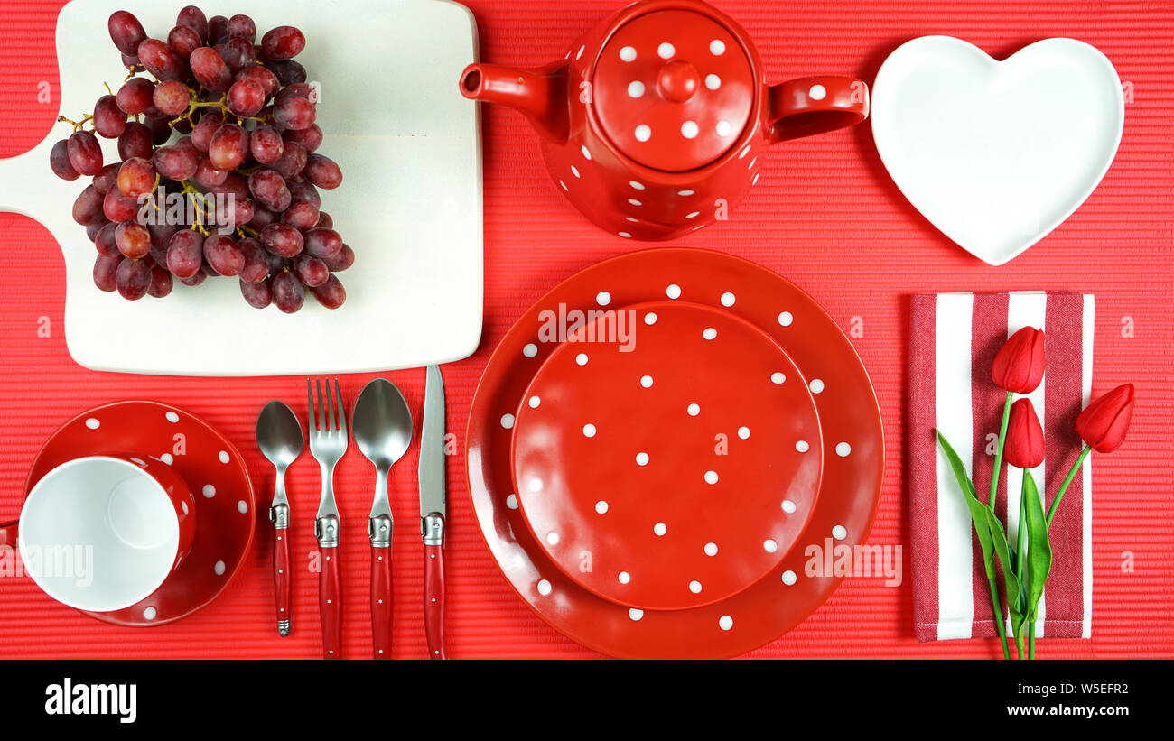
[[[290,504],[285,498],[285,469],[302,455],[302,426],[281,401],[270,401],[257,417],[257,447],[277,469],[269,522],[274,523],[274,587],[277,592],[277,633],[290,634]]]

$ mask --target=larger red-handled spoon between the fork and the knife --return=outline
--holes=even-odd
[[[359,450],[375,463],[375,502],[367,519],[371,538],[371,634],[376,659],[391,658],[391,502],[387,471],[412,443],[412,412],[404,395],[385,379],[363,388],[355,402],[351,429]]]

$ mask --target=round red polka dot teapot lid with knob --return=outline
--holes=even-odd
[[[724,155],[742,135],[755,76],[738,40],[715,19],[654,11],[612,34],[592,82],[603,132],[627,157],[682,172]]]

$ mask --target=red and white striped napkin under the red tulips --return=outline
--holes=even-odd
[[[979,499],[986,502],[1006,399],[1006,392],[991,380],[991,361],[1006,339],[1025,326],[1045,334],[1047,369],[1028,399],[1044,426],[1045,461],[1032,475],[1045,492],[1046,510],[1081,448],[1072,428],[1088,403],[1092,387],[1093,297],[1060,292],[912,297],[909,483],[918,640],[997,635],[983,552],[933,430],[940,429],[958,451]],[[1012,543],[1019,524],[1021,483],[1020,470],[1005,465],[996,511]],[[1052,573],[1040,600],[1035,634],[1089,638],[1091,460],[1065,494],[1050,541]],[[999,586],[1001,591],[1001,579]],[[1006,610],[1001,597],[1000,603]]]

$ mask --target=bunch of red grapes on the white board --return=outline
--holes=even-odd
[[[335,273],[355,252],[321,210],[318,189],[343,175],[317,152],[317,90],[294,60],[302,32],[279,26],[258,45],[248,15],[208,19],[195,6],[166,41],[126,11],[109,30],[129,74],[93,114],[60,118],[74,132],[49,155],[59,177],[93,178],[73,217],[97,247],[94,284],[136,300],[232,276],[257,308],[291,314],[306,291],[342,306]],[[119,162],[103,164],[95,134],[117,140]]]

